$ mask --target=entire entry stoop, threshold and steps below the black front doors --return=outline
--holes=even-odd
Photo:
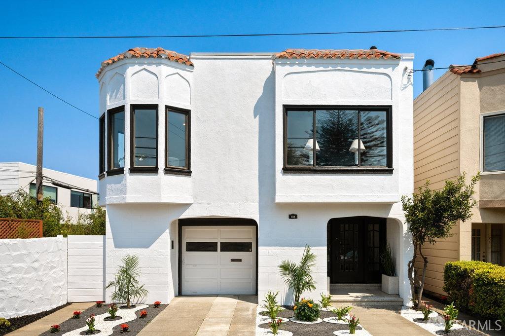
[[[332,306],[402,306],[403,299],[382,292],[380,287],[380,283],[332,283]]]

